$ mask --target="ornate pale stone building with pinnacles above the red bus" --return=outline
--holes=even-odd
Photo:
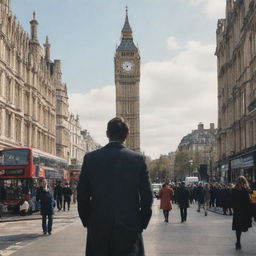
[[[48,39],[40,45],[35,13],[30,25],[28,35],[10,0],[0,0],[0,148],[29,146],[66,158],[67,134],[56,140],[56,132],[67,132],[60,123],[68,113],[60,62],[51,61]]]

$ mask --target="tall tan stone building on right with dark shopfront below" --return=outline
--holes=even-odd
[[[226,0],[218,20],[218,160],[222,176],[256,179],[256,1]]]

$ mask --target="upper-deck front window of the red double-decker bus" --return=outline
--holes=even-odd
[[[1,165],[27,165],[29,160],[28,149],[11,149],[0,152]]]

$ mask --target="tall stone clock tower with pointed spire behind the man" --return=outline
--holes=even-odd
[[[133,42],[126,7],[121,42],[115,54],[116,116],[123,117],[130,127],[126,146],[140,151],[140,55]]]

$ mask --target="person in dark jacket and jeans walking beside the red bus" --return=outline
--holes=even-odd
[[[43,233],[46,235],[48,232],[48,234],[51,235],[54,201],[53,196],[47,187],[47,180],[45,178],[39,179],[39,188],[36,192],[36,200],[39,201],[41,205]]]

